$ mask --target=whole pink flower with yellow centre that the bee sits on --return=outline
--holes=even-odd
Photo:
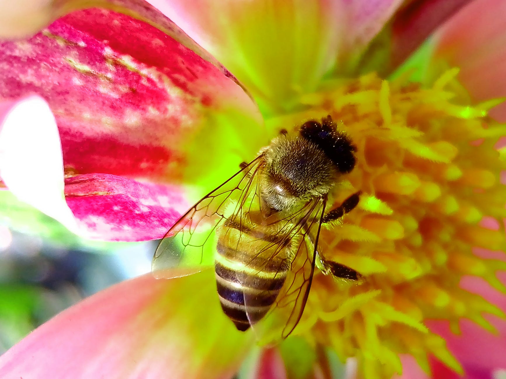
[[[489,2],[501,6],[478,0],[470,7],[493,17],[484,6]],[[251,159],[263,146],[259,141],[282,128],[327,114],[342,120],[340,128],[358,150],[338,201],[358,190],[362,197],[340,227],[322,231],[321,243],[328,258],[358,270],[363,280],[350,285],[316,274],[297,336],[281,344],[281,356],[293,356],[283,356],[293,346],[309,352],[293,370],[302,376],[316,361],[321,371],[330,365],[325,349],[341,359],[356,357],[366,378],[400,373],[399,354],[425,370],[432,354],[462,372],[426,320],[444,319],[457,330],[468,318],[490,330],[483,313],[503,317],[459,282],[474,275],[504,291],[495,276],[504,261],[474,254],[473,247],[504,251],[503,160],[495,144],[505,128],[487,112],[506,93],[491,96],[487,86],[476,85],[476,74],[458,76],[454,66],[470,71],[458,49],[445,53],[449,31],[441,35],[440,50],[430,52],[424,80],[413,82],[407,69],[426,62],[419,56],[385,75],[463,3],[160,3],[197,45],[144,3],[97,2],[102,9],[71,13],[34,37],[4,42],[0,93],[6,100],[33,92],[45,99],[68,176],[61,210],[67,204],[77,229],[110,240],[159,238],[188,205],[186,185],[198,184],[199,191],[220,183],[242,156]],[[63,4],[51,12],[78,6]],[[434,10],[441,18],[432,17]],[[503,84],[493,88],[504,91]],[[5,154],[13,154],[9,148],[19,144],[12,141],[20,140],[10,139]],[[15,191],[16,175],[8,180],[4,172],[0,166]],[[38,205],[29,184],[20,188]],[[58,191],[55,185],[52,192]],[[2,357],[0,373],[230,376],[251,347],[251,335],[234,330],[221,313],[212,281],[207,271],[121,283],[41,326]],[[202,309],[205,315],[197,313]]]

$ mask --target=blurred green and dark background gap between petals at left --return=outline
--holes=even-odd
[[[80,239],[0,191],[0,354],[79,300],[149,272],[155,248]]]

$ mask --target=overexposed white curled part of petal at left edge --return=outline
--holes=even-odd
[[[0,176],[19,200],[79,231],[65,202],[56,122],[39,97],[0,102]]]

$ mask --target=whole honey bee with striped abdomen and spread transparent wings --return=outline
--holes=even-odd
[[[359,202],[357,192],[325,209],[335,183],[353,170],[355,151],[330,116],[281,131],[168,230],[153,257],[155,276],[170,277],[164,272],[174,266],[214,264],[222,309],[237,329],[256,329],[272,314],[277,321],[270,325],[279,325],[286,338],[301,319],[315,267],[335,277],[360,277],[318,250],[322,226]],[[203,224],[210,231],[199,232]]]

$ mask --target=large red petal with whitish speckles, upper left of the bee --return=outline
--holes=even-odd
[[[250,159],[262,121],[230,73],[147,4],[113,3],[163,31],[105,9],[72,13],[29,40],[1,43],[0,98],[35,92],[49,103],[70,174],[173,182]]]

